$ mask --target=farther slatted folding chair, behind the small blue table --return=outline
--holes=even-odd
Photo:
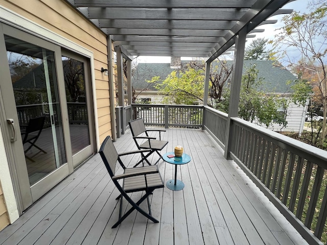
[[[161,151],[168,144],[168,141],[161,140],[161,132],[166,132],[166,130],[160,130],[160,129],[147,130],[144,126],[144,121],[142,118],[131,120],[130,122],[128,122],[128,124],[129,124],[129,128],[132,132],[133,139],[135,141],[137,149],[139,149],[139,150],[150,149],[151,150],[147,155],[144,155],[142,153],[142,159],[139,162],[137,162],[134,167],[136,167],[139,163],[144,162],[144,160],[149,165],[151,165],[151,163],[148,161],[147,158],[154,152],[156,152],[159,155],[159,159],[154,164],[157,164],[159,162],[160,158],[162,160],[164,160],[164,158],[162,158],[159,151]],[[150,131],[159,132],[159,140],[157,140],[155,137],[149,137],[148,132],[150,132]],[[143,141],[141,142],[141,140],[143,140]]]

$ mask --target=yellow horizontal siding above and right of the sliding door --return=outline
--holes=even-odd
[[[100,142],[106,135],[111,135],[109,77],[104,76],[101,72],[101,67],[108,68],[106,35],[62,0],[0,0],[0,5],[83,46],[94,54],[97,109],[98,111],[99,109],[107,111],[98,114],[98,120],[101,120],[103,124],[99,127]],[[101,102],[104,98],[108,99],[108,103]],[[105,123],[102,116],[105,116],[107,120]]]

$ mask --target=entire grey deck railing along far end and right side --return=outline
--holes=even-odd
[[[130,110],[146,125],[207,130],[310,244],[327,240],[326,151],[240,118],[230,118],[230,134],[228,115],[207,106],[133,104],[125,113]]]

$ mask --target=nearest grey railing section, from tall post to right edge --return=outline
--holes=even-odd
[[[327,152],[240,118],[231,124],[231,158],[310,244],[326,240]]]

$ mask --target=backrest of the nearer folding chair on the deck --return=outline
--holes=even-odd
[[[106,166],[111,177],[115,174],[116,163],[118,160],[118,153],[113,145],[110,136],[107,136],[100,147],[100,156]]]

